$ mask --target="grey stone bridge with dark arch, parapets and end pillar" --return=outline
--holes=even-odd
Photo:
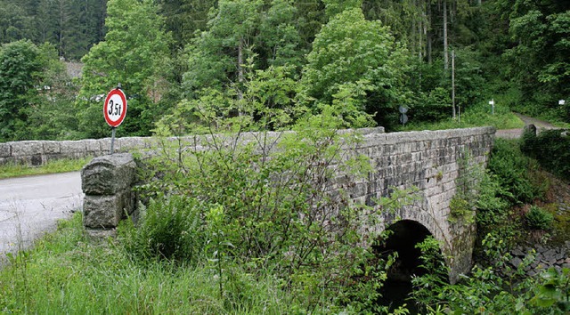
[[[365,179],[355,182],[339,179],[336,184],[346,190],[355,203],[369,206],[373,206],[375,198],[387,197],[393,188],[417,187],[420,197],[396,213],[383,214],[378,226],[364,226],[362,230],[393,230],[387,249],[398,251],[404,262],[417,261],[414,245],[428,235],[434,236],[440,241],[451,269],[450,280],[456,281],[460,273],[470,270],[476,238],[475,223],[453,220],[450,210],[456,181],[462,171],[460,161],[468,157],[471,164],[486,165],[493,147],[494,128],[384,133],[380,127],[360,132],[363,141],[357,152],[371,159],[373,171]],[[82,171],[85,228],[92,233],[113,230],[125,212],[133,211],[135,200],[130,190],[136,163],[126,154],[102,156],[109,153],[109,139],[25,142],[0,143],[0,164],[7,161],[42,164],[53,158],[101,156]],[[122,138],[117,140],[115,148],[132,151],[156,145],[156,139]],[[413,267],[412,263],[408,268]]]

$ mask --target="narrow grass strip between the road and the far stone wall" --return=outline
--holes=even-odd
[[[0,166],[0,179],[29,175],[74,172],[80,170],[91,159],[92,158],[52,160],[47,162],[44,166],[7,164]]]

